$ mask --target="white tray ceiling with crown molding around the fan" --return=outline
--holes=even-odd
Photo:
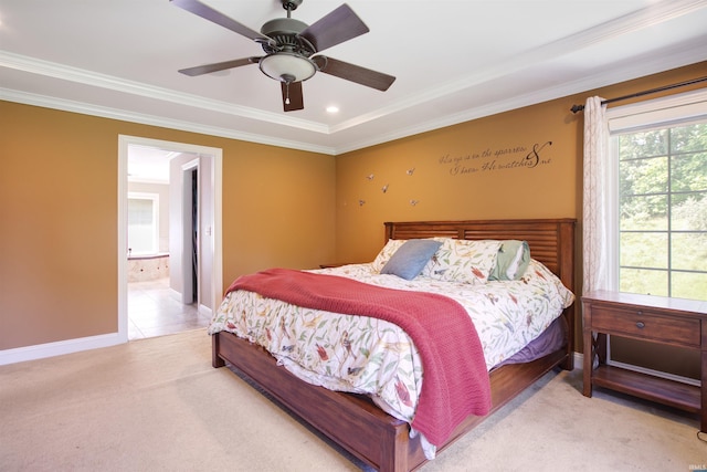
[[[279,0],[202,1],[256,31],[286,15]],[[257,65],[179,74],[263,52],[168,0],[0,0],[0,99],[337,155],[707,60],[707,0],[348,3],[370,32],[326,54],[394,75],[387,92],[318,73],[284,113]]]

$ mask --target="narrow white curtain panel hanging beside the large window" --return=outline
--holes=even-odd
[[[606,105],[594,96],[584,105],[584,183],[582,206],[582,291],[608,290],[609,283],[609,125]]]

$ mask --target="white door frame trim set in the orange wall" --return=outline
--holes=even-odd
[[[167,141],[138,136],[118,135],[118,342],[128,342],[128,302],[127,302],[127,193],[128,193],[128,148],[131,145],[150,146],[176,153],[192,153],[209,156],[211,165],[211,201],[213,211],[211,221],[202,221],[210,227],[209,237],[212,238],[212,270],[211,270],[211,308],[217,310],[221,302],[223,285],[223,252],[222,252],[222,167],[223,149],[187,143]]]

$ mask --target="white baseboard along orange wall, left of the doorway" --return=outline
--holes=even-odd
[[[80,350],[96,349],[99,347],[115,346],[127,343],[125,336],[118,333],[102,334],[98,336],[81,337],[76,339],[59,340],[55,343],[38,344],[34,346],[18,347],[0,350],[0,366],[22,363],[25,360],[43,359],[45,357],[61,356],[63,354],[78,353]]]

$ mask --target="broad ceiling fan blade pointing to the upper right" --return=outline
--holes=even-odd
[[[299,35],[309,41],[318,52],[368,32],[369,29],[363,21],[348,4],[344,3],[309,25]]]

